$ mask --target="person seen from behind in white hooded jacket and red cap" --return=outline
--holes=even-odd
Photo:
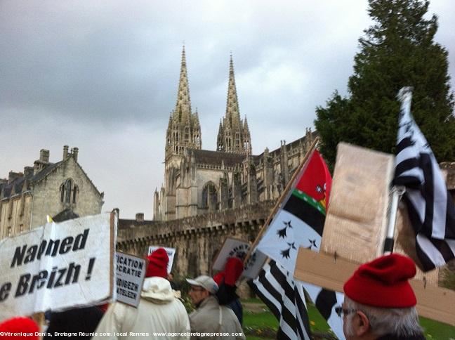
[[[171,284],[164,278],[169,262],[166,251],[159,248],[147,259],[149,265],[138,308],[114,302],[92,339],[190,339],[190,320],[185,306],[174,296]]]

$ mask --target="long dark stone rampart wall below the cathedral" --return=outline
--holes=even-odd
[[[253,241],[275,201],[173,221],[119,220],[117,249],[144,256],[150,245],[176,248],[173,272],[192,276],[211,274],[211,266],[226,237]]]

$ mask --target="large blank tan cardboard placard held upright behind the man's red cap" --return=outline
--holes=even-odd
[[[356,263],[371,261],[383,254],[394,164],[393,155],[338,144],[322,251]],[[407,212],[404,210],[403,214],[403,209],[399,209],[393,251],[406,254],[419,266],[415,239]],[[438,270],[423,273],[417,268],[416,278],[425,278],[427,284],[437,285]]]

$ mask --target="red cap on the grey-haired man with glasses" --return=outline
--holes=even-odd
[[[407,308],[417,300],[409,279],[416,275],[414,261],[390,254],[362,264],[343,289],[350,299],[367,306]]]

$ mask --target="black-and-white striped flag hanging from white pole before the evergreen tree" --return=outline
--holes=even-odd
[[[428,142],[411,115],[412,91],[398,93],[401,111],[395,185],[404,185],[416,252],[423,270],[444,266],[455,257],[455,207]]]

